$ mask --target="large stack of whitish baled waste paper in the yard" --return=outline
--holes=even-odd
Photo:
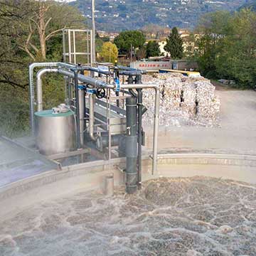
[[[144,75],[142,78],[143,83],[159,85],[161,126],[218,125],[220,99],[209,80],[187,78],[179,73]],[[148,108],[144,123],[152,124],[154,90],[144,90],[144,105]]]

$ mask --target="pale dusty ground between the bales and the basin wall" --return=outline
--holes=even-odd
[[[220,127],[160,127],[159,149],[221,151],[256,154],[256,92],[225,90],[220,96]],[[146,128],[147,144],[152,143],[151,129]]]

